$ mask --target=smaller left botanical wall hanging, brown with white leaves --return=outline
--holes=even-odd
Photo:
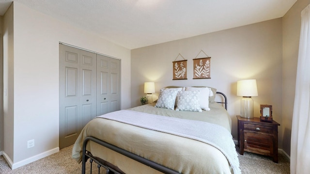
[[[183,56],[179,53],[179,55],[175,58],[175,60],[181,56]],[[173,61],[172,62],[172,70],[173,70],[173,79],[172,80],[186,80],[187,79],[187,60],[183,58],[184,60],[179,61]]]

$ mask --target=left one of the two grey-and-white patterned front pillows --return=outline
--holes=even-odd
[[[178,90],[160,89],[155,107],[174,110],[175,98]]]

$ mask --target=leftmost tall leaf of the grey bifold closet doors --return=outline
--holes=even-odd
[[[59,48],[59,141],[60,148],[71,145],[79,134],[79,50]]]

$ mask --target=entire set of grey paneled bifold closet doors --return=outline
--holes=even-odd
[[[120,110],[120,60],[60,43],[60,148],[95,116]],[[115,71],[115,72],[114,72]]]

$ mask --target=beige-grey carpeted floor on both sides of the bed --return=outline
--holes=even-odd
[[[0,156],[0,174],[81,174],[81,164],[71,159],[72,147],[71,145],[63,148],[56,154],[15,170],[11,170],[3,156]],[[279,163],[274,163],[270,157],[248,152],[245,152],[244,155],[240,155],[238,152],[238,158],[242,174],[290,174],[290,162],[282,154],[279,154]],[[90,166],[88,165],[86,169],[89,173]],[[101,170],[104,169],[101,168]],[[103,172],[103,174],[105,173]]]

